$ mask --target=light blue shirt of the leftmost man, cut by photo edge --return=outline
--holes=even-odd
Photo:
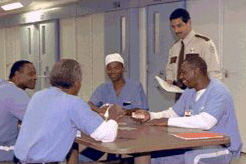
[[[14,146],[18,135],[17,121],[22,120],[28,94],[14,83],[0,79],[0,146]],[[12,161],[13,151],[0,150],[0,161]]]

